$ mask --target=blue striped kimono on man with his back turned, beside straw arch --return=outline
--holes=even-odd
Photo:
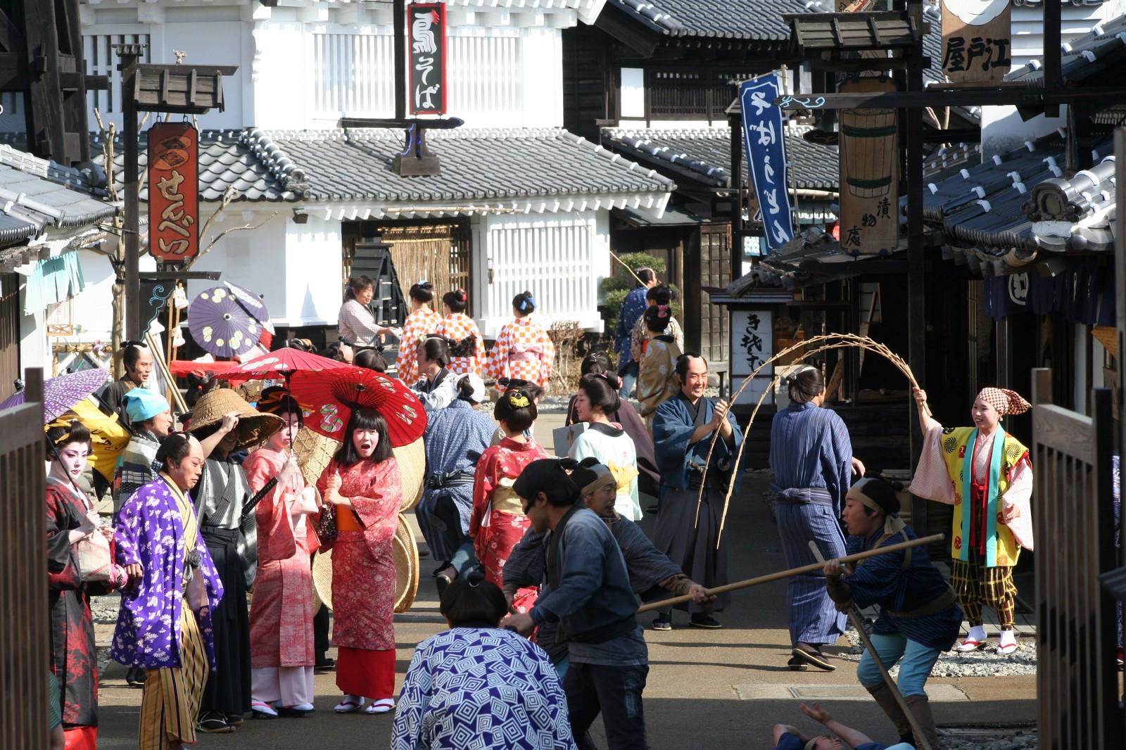
[[[852,476],[852,443],[843,420],[812,401],[792,401],[775,414],[770,428],[770,468],[786,566],[817,562],[810,551],[811,539],[825,560],[843,555],[839,519]],[[846,615],[829,598],[821,571],[789,578],[787,605],[794,645],[835,643],[844,632]]]

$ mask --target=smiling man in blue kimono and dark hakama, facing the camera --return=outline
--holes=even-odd
[[[677,380],[680,392],[658,407],[653,417],[653,446],[661,471],[661,510],[653,529],[653,546],[669,555],[688,578],[712,589],[727,583],[727,550],[723,545],[716,548],[716,542],[732,473],[732,491],[739,491],[735,464],[743,432],[725,401],[704,398],[707,361],[698,352],[688,351],[677,360]],[[720,437],[709,462],[708,450],[716,432]],[[688,609],[696,627],[714,628],[720,623],[712,614],[722,610],[727,599],[729,595],[723,593],[706,604],[678,607]],[[659,611],[653,627],[672,627],[671,607]]]

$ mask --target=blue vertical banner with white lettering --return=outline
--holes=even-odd
[[[754,197],[762,212],[762,232],[767,251],[777,250],[794,239],[786,171],[786,122],[775,99],[781,96],[778,73],[760,75],[739,84],[739,106],[743,113],[743,143]]]

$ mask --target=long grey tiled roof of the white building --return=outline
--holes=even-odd
[[[430,131],[427,143],[441,159],[438,177],[395,175],[392,162],[402,143],[402,132],[390,130],[204,132],[200,198],[218,200],[227,186],[239,190],[239,200],[256,202],[527,200],[676,187],[560,128]],[[119,157],[115,166],[118,171]]]

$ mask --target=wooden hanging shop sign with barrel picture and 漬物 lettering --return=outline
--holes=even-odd
[[[839,91],[894,91],[886,75],[854,78]],[[891,252],[900,243],[896,110],[843,109],[840,115],[840,243],[852,256]]]

